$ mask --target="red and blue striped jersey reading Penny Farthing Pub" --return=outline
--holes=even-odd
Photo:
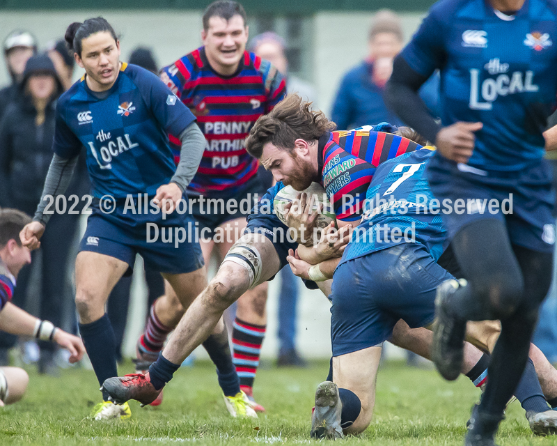
[[[285,96],[285,79],[268,61],[244,52],[237,72],[215,72],[201,47],[161,71],[163,82],[197,117],[207,144],[189,192],[204,195],[242,187],[255,176],[258,161],[246,151],[253,124]],[[178,136],[178,135],[174,135]],[[180,157],[178,139],[175,161]]]

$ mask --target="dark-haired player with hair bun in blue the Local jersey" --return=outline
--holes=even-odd
[[[120,277],[131,272],[136,253],[162,272],[173,305],[187,307],[207,284],[201,248],[187,237],[193,220],[176,209],[193,178],[205,146],[195,116],[148,70],[120,62],[120,43],[102,17],[74,23],[66,41],[86,75],[58,100],[54,157],[43,200],[22,242],[38,247],[45,230],[49,196],[63,194],[84,146],[93,183],[93,213],[76,259],[79,332],[100,383],[118,376],[114,333],[104,304]],[[167,134],[179,135],[182,156],[175,167]],[[174,211],[173,211],[174,210]],[[182,208],[183,210],[183,208]],[[173,211],[173,212],[172,212]],[[173,243],[164,243],[164,239]],[[180,239],[180,243],[179,240]],[[166,309],[163,316],[175,314]],[[164,321],[164,319],[161,319]],[[225,331],[223,324],[217,332]],[[230,352],[212,357],[233,415],[246,408]],[[95,420],[130,417],[103,394]]]

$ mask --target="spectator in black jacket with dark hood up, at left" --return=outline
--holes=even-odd
[[[16,208],[33,215],[42,193],[50,161],[54,137],[54,109],[63,86],[56,75],[54,64],[46,55],[33,56],[27,61],[19,93],[6,107],[0,121],[0,207]],[[66,197],[79,190],[79,177],[74,181]],[[79,200],[81,204],[81,194]],[[72,203],[68,200],[68,206]],[[77,210],[81,207],[77,206]],[[40,282],[40,318],[61,325],[62,301],[68,254],[79,223],[79,213],[71,215],[55,213],[42,241],[42,270]],[[33,254],[34,255],[34,254]],[[38,266],[38,263],[36,263]],[[34,267],[23,268],[17,281],[14,301],[22,306],[29,277]],[[0,349],[6,356],[6,348],[15,339],[0,337]],[[55,373],[54,346],[40,343],[39,371]]]

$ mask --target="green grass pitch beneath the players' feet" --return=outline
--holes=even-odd
[[[255,392],[267,415],[238,421],[224,408],[212,365],[198,362],[177,372],[159,408],[139,408],[134,401],[132,420],[104,423],[88,418],[100,401],[92,371],[70,369],[56,379],[30,370],[24,400],[0,409],[0,445],[313,444],[313,394],[327,370],[328,362],[308,369],[261,369]],[[120,373],[130,371],[129,364],[120,368]],[[347,444],[462,445],[478,396],[466,378],[446,383],[434,371],[387,363],[377,379],[372,424]],[[510,406],[498,437],[501,446],[557,445],[556,440],[534,437],[519,403]]]

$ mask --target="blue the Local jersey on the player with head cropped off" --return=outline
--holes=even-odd
[[[485,0],[441,0],[402,51],[416,72],[441,70],[441,121],[483,123],[469,165],[518,171],[544,155],[557,89],[557,2],[513,16]]]

